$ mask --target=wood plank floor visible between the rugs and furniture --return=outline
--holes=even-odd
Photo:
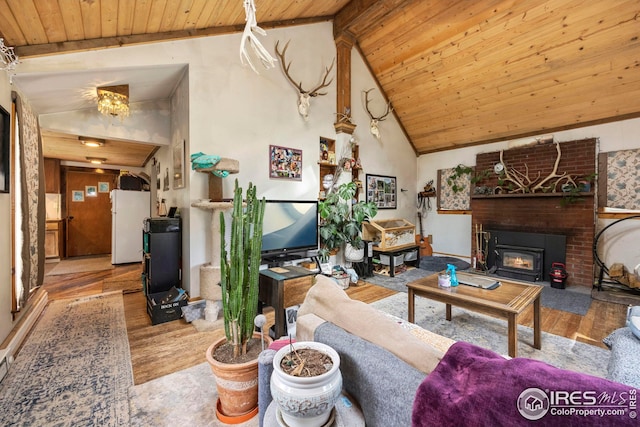
[[[127,274],[131,276],[132,272],[141,271],[141,268],[140,264],[127,264],[105,271],[45,276],[44,288],[50,300],[95,295],[102,293],[105,279],[117,279]],[[351,298],[366,303],[395,293],[368,283],[347,289]],[[152,326],[146,312],[144,294],[126,293],[123,297],[135,384],[204,362],[206,349],[223,334],[222,330],[198,332],[183,320]],[[273,324],[273,313],[267,311],[265,314],[265,328],[268,328]],[[597,300],[592,301],[585,316],[542,307],[542,330],[604,347],[602,339],[623,326],[625,317],[626,306]],[[520,316],[519,323],[532,325],[531,308]]]

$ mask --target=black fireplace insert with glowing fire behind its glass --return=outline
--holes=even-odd
[[[499,276],[537,282],[542,280],[544,249],[496,245],[496,273]]]

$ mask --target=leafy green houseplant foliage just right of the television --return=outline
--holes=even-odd
[[[318,202],[320,215],[320,259],[329,260],[332,251],[339,250],[345,244],[362,249],[362,222],[368,221],[378,213],[372,202],[355,202],[358,191],[355,182],[341,184],[331,191],[324,200]]]

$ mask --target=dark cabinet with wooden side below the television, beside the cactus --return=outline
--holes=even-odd
[[[273,307],[275,338],[287,335],[285,308],[301,304],[313,285],[316,273],[297,266],[275,267],[260,271],[258,310]]]

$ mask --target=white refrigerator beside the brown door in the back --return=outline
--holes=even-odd
[[[151,193],[111,190],[111,264],[142,262],[142,229]]]

